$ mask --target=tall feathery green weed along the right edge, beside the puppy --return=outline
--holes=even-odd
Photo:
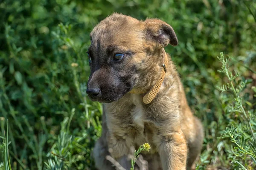
[[[230,114],[230,127],[224,130],[223,138],[229,137],[232,147],[229,150],[230,158],[232,158],[233,167],[243,170],[256,168],[256,112],[253,105],[248,99],[244,99],[243,92],[250,83],[248,80],[239,78],[239,73],[233,73],[230,69],[227,58],[221,53],[220,60],[222,67],[219,72],[224,73],[228,83],[218,87],[224,102],[227,102],[226,112]],[[252,87],[255,94],[255,87]]]

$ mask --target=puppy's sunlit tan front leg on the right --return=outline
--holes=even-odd
[[[159,155],[163,170],[186,170],[187,144],[181,130],[160,134]]]

